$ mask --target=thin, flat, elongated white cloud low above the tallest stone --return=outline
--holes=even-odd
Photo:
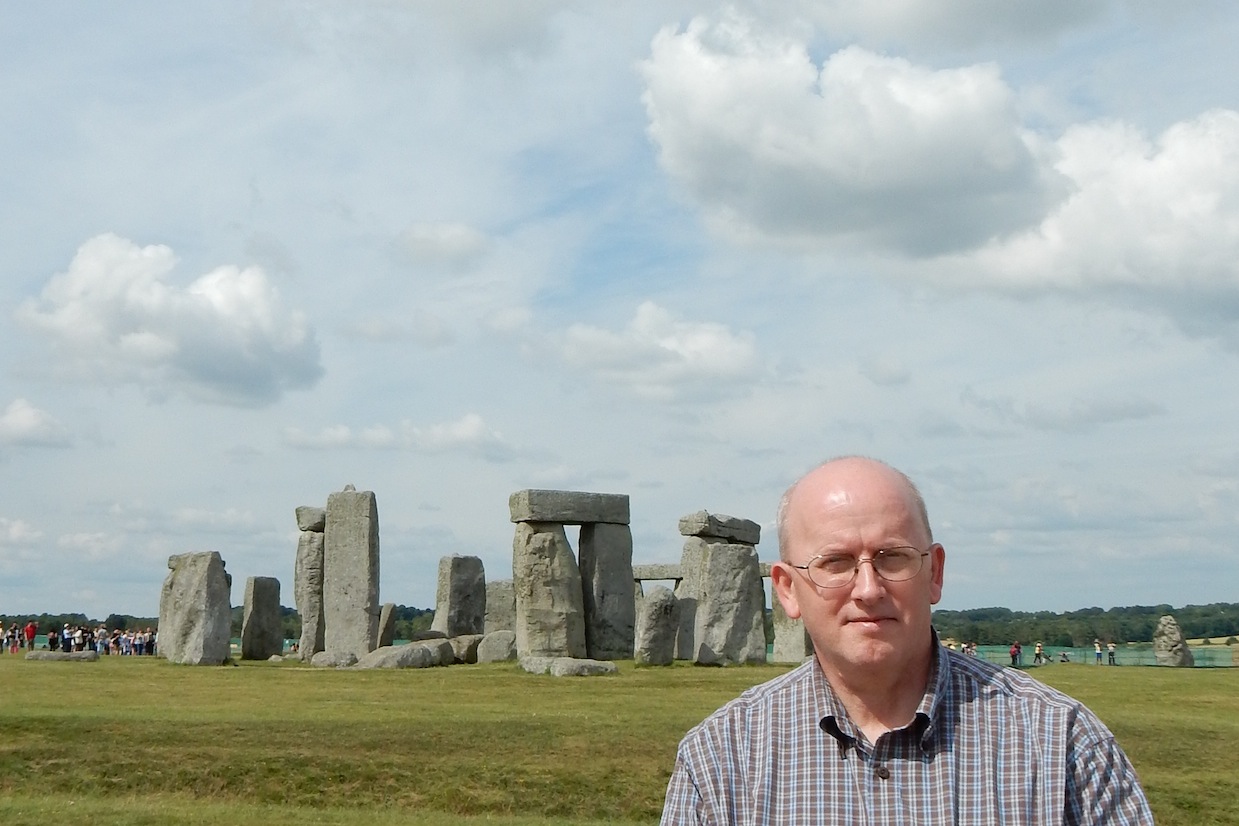
[[[492,430],[477,414],[466,414],[456,421],[419,427],[409,421],[398,427],[374,425],[353,430],[347,425],[323,427],[317,433],[307,433],[296,427],[284,432],[284,441],[306,450],[404,450],[418,453],[476,453],[502,462],[509,459],[514,448],[503,435]]]

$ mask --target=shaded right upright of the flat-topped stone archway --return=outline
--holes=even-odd
[[[628,525],[582,525],[580,559],[587,656],[592,660],[631,659],[637,619]]]

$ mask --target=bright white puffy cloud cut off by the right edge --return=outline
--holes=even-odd
[[[1239,321],[1239,113],[1204,113],[1156,141],[1120,123],[1084,124],[1056,149],[1070,197],[1036,228],[939,261],[942,280],[1103,291],[1189,332]]]

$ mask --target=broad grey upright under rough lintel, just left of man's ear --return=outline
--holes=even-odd
[[[766,661],[766,588],[752,545],[705,547],[694,617],[693,661],[735,665]]]

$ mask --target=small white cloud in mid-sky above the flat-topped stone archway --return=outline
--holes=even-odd
[[[673,399],[716,394],[751,380],[758,372],[752,333],[732,333],[714,322],[683,321],[652,301],[637,307],[622,332],[572,324],[561,358],[603,381],[634,393]]]

